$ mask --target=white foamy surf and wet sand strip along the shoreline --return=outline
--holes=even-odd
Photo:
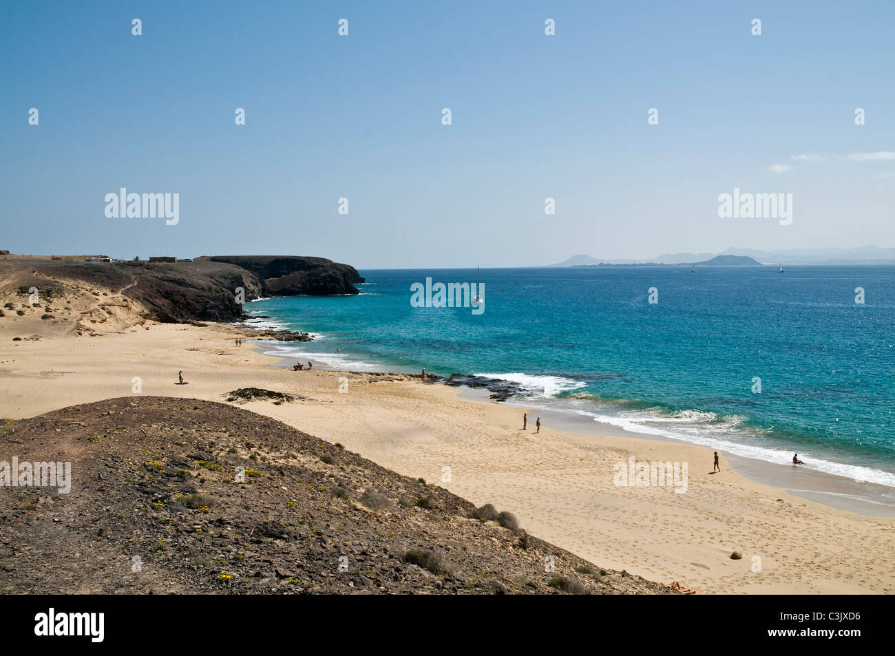
[[[286,321],[280,319],[276,321],[284,328],[294,328]],[[320,337],[328,336],[320,335]],[[337,343],[338,340],[333,339],[333,343],[313,345],[310,348],[275,343],[268,351],[283,358],[284,362],[294,362],[290,358],[300,358],[303,362],[307,360],[315,362],[315,367],[336,371],[420,371],[418,367],[422,366],[418,363],[408,368],[402,364],[404,361],[400,357],[396,361],[389,362],[388,358],[377,356],[368,358],[363,353],[354,355],[330,353],[336,350]],[[323,351],[315,354],[314,351],[317,349]],[[290,351],[297,354],[290,354]],[[332,362],[328,362],[330,355],[333,357]],[[326,364],[331,366],[326,367]],[[429,364],[426,363],[425,366],[426,371],[431,372]],[[500,371],[519,371],[512,369],[512,365],[508,366],[510,369]],[[450,371],[473,370],[463,367],[459,369],[442,367],[436,375],[446,378]],[[454,384],[458,382],[456,378],[459,376],[451,374]],[[558,392],[569,389],[569,385],[586,385],[584,380],[574,374],[471,373],[468,377],[479,379],[476,383],[484,379],[490,379],[490,383],[500,383],[499,387],[489,384],[488,388],[499,393],[501,395],[499,401],[507,404],[538,408],[541,413],[551,410],[569,416],[581,414],[597,423],[598,433],[644,435],[651,439],[710,447],[712,450],[728,454],[737,462],[737,467],[741,471],[748,472],[755,480],[769,485],[780,485],[787,490],[797,490],[805,498],[826,499],[825,503],[832,507],[844,507],[871,515],[882,513],[886,516],[895,516],[895,470],[891,468],[891,458],[885,454],[864,452],[859,445],[852,448],[855,445],[847,439],[840,443],[839,439],[828,440],[811,434],[789,435],[783,429],[780,429],[783,430],[782,434],[775,432],[766,434],[761,422],[753,425],[748,417],[740,416],[742,413],[730,414],[717,408],[703,408],[701,405],[686,403],[669,409],[659,402],[651,404],[636,398],[623,399],[622,404],[630,401],[635,408],[640,409],[620,412],[612,404],[607,406],[589,402],[588,395],[584,395],[584,400],[576,400],[575,394]],[[475,387],[479,386],[474,384],[473,388]],[[622,407],[621,410],[625,408]],[[685,416],[681,419],[678,413],[695,416],[693,418]],[[563,425],[571,424],[563,422]],[[593,433],[593,427],[590,424],[586,425],[588,428],[578,430]],[[810,476],[801,477],[811,481],[805,488],[799,486],[799,478],[793,478],[790,472],[790,461],[794,452],[799,453],[802,460],[807,463],[804,468],[812,473]],[[821,474],[830,478],[826,479]]]

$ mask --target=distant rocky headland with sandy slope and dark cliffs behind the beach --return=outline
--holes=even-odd
[[[323,258],[246,256],[200,258],[194,262],[85,262],[44,256],[0,256],[0,299],[4,314],[38,314],[51,321],[63,306],[78,306],[90,317],[74,329],[93,329],[108,319],[126,326],[140,319],[163,322],[234,321],[237,302],[269,295],[358,294],[363,282],[346,264]],[[28,300],[38,289],[38,305]],[[57,302],[56,306],[53,302]],[[47,302],[50,309],[47,310]],[[8,305],[7,305],[8,303]],[[55,311],[54,311],[55,310]],[[21,316],[21,315],[20,315]]]

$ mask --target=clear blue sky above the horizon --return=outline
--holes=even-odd
[[[893,35],[891,0],[5,2],[0,248],[435,268],[891,247]],[[120,187],[179,193],[179,223],[108,218]],[[734,187],[792,193],[792,224],[720,218]]]

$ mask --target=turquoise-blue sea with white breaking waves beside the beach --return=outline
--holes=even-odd
[[[516,380],[522,405],[771,462],[797,451],[895,487],[895,267],[482,269],[478,316],[410,302],[413,283],[474,283],[474,270],[361,274],[360,296],[252,302],[319,336],[270,352]]]

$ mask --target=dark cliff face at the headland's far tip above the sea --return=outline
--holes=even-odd
[[[357,269],[326,258],[296,255],[215,255],[197,261],[222,262],[244,268],[259,277],[264,295],[332,296],[360,294],[356,284],[363,278]]]

